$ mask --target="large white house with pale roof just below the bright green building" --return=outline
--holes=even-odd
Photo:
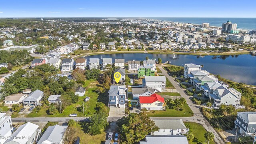
[[[165,92],[166,77],[165,76],[145,76],[142,80],[142,86],[153,88],[155,92]]]

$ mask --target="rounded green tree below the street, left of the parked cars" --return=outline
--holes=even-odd
[[[102,129],[106,128],[108,125],[107,114],[101,111],[92,115],[89,120],[90,123],[88,124],[88,133],[93,136],[101,134]]]

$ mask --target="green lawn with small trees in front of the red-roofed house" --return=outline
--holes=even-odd
[[[172,102],[169,105],[169,108],[170,109],[167,109],[166,111],[151,110],[150,112],[146,112],[146,114],[151,117],[190,117],[194,114],[188,104],[183,104],[183,109],[178,110],[174,102]]]

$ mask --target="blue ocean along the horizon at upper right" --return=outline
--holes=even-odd
[[[147,18],[148,19],[148,18]],[[192,24],[202,24],[209,22],[210,26],[222,27],[222,23],[230,20],[232,23],[237,24],[238,29],[256,30],[256,18],[150,18],[156,20],[165,20],[171,22],[184,22]]]

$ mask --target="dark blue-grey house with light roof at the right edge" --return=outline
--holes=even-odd
[[[252,136],[256,133],[256,112],[237,112],[236,127],[244,136]]]

